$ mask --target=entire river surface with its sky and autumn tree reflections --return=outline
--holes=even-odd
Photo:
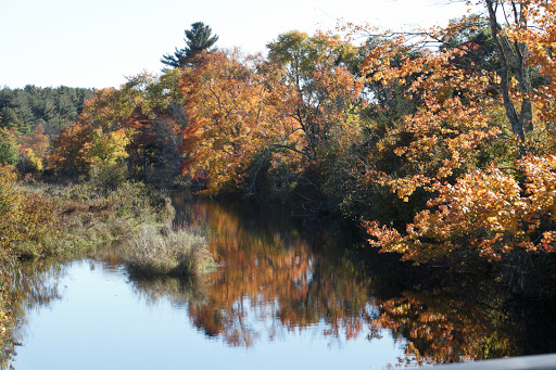
[[[488,278],[414,280],[417,269],[333,226],[174,203],[179,227],[210,231],[218,266],[194,282],[129,276],[110,253],[34,268],[16,370],[383,369],[556,350],[551,304],[516,301]]]

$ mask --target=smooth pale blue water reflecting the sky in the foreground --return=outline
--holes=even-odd
[[[253,316],[243,326],[260,337],[256,345],[235,346],[194,324],[188,302],[194,297],[154,297],[159,292],[143,290],[122,268],[102,263],[71,264],[59,285],[61,299],[27,314],[15,369],[332,369],[346,363],[368,369],[400,354],[389,335],[372,343],[364,335],[332,339],[323,335],[324,322],[302,331],[279,322],[267,328],[276,319],[258,317],[250,297],[237,305]]]

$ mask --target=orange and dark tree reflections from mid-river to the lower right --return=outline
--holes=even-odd
[[[214,230],[210,248],[222,264],[204,282],[204,303],[189,306],[190,319],[228,345],[249,347],[283,330],[318,327],[321,335],[340,342],[359,335],[372,340],[389,330],[405,348],[399,365],[527,354],[518,340],[522,323],[504,310],[510,295],[484,277],[384,294],[376,286],[403,273],[370,269],[357,279],[353,264],[330,242],[341,242],[341,235],[308,241],[300,228],[285,225],[287,217],[248,215],[214,203],[188,209],[186,220]]]

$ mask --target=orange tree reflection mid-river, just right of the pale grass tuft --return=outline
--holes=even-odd
[[[338,259],[316,253],[318,243],[285,225],[287,218],[215,203],[179,210],[188,227],[212,230],[210,251],[218,268],[194,282],[204,298],[188,305],[192,323],[206,335],[250,347],[309,328],[338,342],[368,331],[365,323],[376,309],[367,285]]]

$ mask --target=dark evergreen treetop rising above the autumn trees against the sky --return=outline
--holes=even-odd
[[[202,22],[191,24],[191,29],[186,29],[185,34],[186,47],[184,49],[176,48],[174,54],[168,53],[162,56],[161,62],[166,66],[184,67],[194,55],[203,50],[208,50],[218,40],[218,35],[212,35],[212,28]]]

